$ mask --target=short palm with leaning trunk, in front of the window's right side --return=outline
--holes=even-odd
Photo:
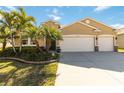
[[[40,45],[38,42],[38,39],[43,38],[43,32],[42,32],[40,26],[39,27],[31,26],[31,27],[27,28],[27,30],[25,31],[24,37],[30,37],[31,40],[34,40],[37,48],[39,49],[40,52],[42,52],[42,49],[40,48]]]

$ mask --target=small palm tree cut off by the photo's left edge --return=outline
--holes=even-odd
[[[3,25],[0,25],[0,42],[2,43],[2,51],[5,50],[7,40],[10,37],[10,32],[8,28],[4,27]]]

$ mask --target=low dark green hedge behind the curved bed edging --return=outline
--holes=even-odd
[[[16,47],[16,50],[19,50],[19,47]],[[26,46],[22,47],[22,53],[16,55],[13,52],[12,47],[6,48],[4,51],[0,51],[0,57],[17,57],[22,58],[27,61],[46,61],[58,59],[59,54],[57,53],[48,53],[48,52],[40,52],[36,47]]]

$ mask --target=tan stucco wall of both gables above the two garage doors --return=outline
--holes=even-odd
[[[86,22],[86,20],[90,20],[89,23]],[[81,22],[88,24],[92,27],[98,28],[100,31],[95,32],[93,28],[90,28],[86,25],[80,24],[78,22],[75,22],[74,24],[71,24],[69,26],[63,27],[62,34],[63,35],[73,35],[73,34],[80,34],[80,35],[114,35],[116,36],[116,32],[113,28],[105,26],[102,23],[99,23],[97,21],[91,20],[91,19],[85,19]]]

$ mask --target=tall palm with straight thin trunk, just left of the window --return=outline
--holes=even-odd
[[[20,39],[20,48],[19,52],[22,50],[22,36],[27,28],[33,25],[35,19],[32,16],[28,16],[23,8],[18,8],[18,12],[15,12],[16,15],[16,30],[18,31]]]

